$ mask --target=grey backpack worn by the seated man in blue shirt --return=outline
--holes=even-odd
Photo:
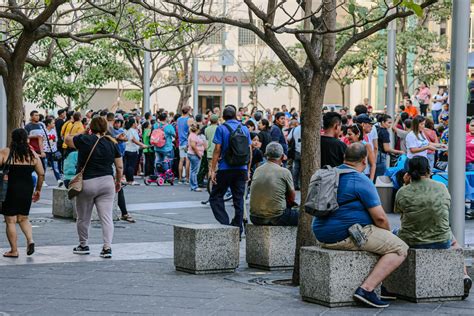
[[[357,172],[354,169],[339,169],[324,166],[316,171],[309,182],[308,195],[304,204],[306,213],[325,217],[339,208],[337,189],[341,174]]]

